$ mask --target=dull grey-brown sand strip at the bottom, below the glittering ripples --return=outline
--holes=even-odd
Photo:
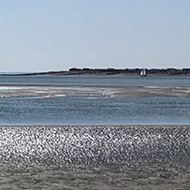
[[[76,169],[3,172],[0,189],[189,190],[190,170],[139,167],[123,172]]]

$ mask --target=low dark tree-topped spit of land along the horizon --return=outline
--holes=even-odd
[[[48,72],[31,72],[31,73],[3,73],[1,76],[23,76],[23,75],[126,75],[138,76],[142,69],[91,69],[91,68],[71,68],[68,71],[48,71]],[[190,68],[176,69],[146,69],[147,76],[190,76]]]

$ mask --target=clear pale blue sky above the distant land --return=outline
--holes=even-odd
[[[0,72],[190,68],[190,0],[1,0]]]

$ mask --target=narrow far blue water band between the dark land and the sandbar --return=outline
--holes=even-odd
[[[22,76],[0,77],[0,85],[189,87],[190,77]]]

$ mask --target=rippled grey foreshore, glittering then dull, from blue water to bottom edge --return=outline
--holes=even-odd
[[[190,126],[1,126],[0,189],[190,189]]]

